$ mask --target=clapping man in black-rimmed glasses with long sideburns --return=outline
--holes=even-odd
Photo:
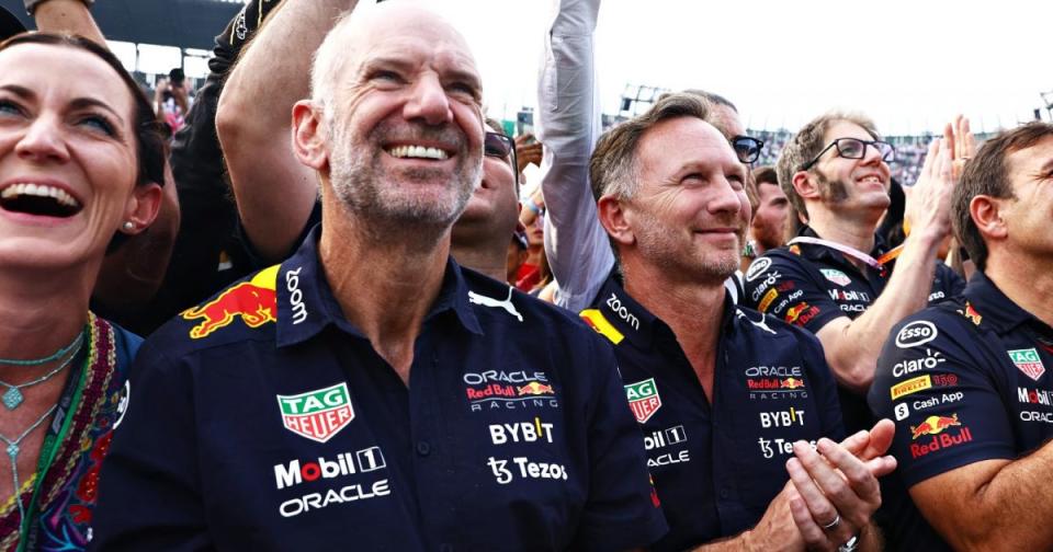
[[[806,124],[777,165],[805,225],[788,248],[769,251],[746,272],[748,304],[823,343],[849,432],[870,427],[864,396],[892,325],[930,297],[964,289],[961,277],[936,260],[950,231],[949,169],[915,186],[913,228],[902,248],[888,249],[875,235],[890,205],[894,154],[865,117],[830,113]]]

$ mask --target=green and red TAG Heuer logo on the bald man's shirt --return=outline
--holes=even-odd
[[[278,395],[285,429],[326,442],[354,419],[347,383],[337,383],[296,395]]]

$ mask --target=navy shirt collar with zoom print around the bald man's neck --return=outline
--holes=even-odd
[[[282,263],[278,273],[278,346],[294,345],[307,341],[328,325],[344,333],[365,337],[343,315],[340,303],[332,295],[325,271],[318,258],[318,238],[321,226],[315,226],[293,256]],[[461,267],[448,258],[439,296],[424,317],[428,322],[452,311],[472,333],[483,334],[475,311],[468,302],[468,287]]]

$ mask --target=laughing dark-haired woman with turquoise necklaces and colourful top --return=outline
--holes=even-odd
[[[94,317],[103,255],[157,214],[162,139],[83,38],[0,44],[0,551],[80,550],[139,338]]]

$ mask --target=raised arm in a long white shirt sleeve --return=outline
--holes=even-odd
[[[537,85],[545,254],[558,285],[556,304],[575,312],[592,301],[614,265],[589,183],[589,157],[602,130],[592,60],[599,9],[599,0],[559,2]]]

